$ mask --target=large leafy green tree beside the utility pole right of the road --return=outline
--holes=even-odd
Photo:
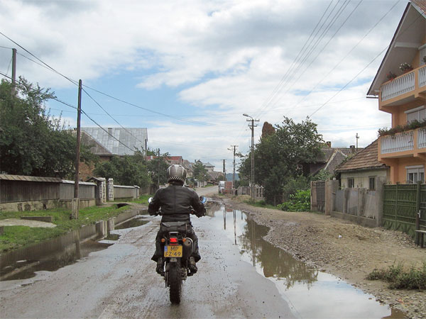
[[[322,135],[317,133],[317,125],[309,118],[295,123],[284,117],[281,125],[275,125],[275,133],[261,138],[254,149],[254,180],[265,187],[268,203],[282,202],[284,186],[302,175],[302,163],[315,162],[321,152],[321,143]],[[251,154],[241,161],[241,179],[250,180],[250,172]]]

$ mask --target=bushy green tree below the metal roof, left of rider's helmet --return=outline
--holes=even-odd
[[[146,187],[151,184],[148,167],[141,152],[123,157],[113,156],[109,162],[100,162],[94,168],[94,174],[121,185],[138,185]]]

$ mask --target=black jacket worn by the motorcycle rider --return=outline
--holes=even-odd
[[[191,208],[195,215],[205,215],[205,208],[197,193],[181,184],[170,184],[164,189],[158,189],[148,205],[148,213],[155,215],[161,208],[162,222],[190,221]]]

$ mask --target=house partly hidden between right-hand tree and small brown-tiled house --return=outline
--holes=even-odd
[[[321,154],[314,163],[302,164],[303,174],[305,176],[315,175],[320,172],[321,169],[324,169],[330,174],[334,174],[334,169],[336,169],[347,157],[355,155],[357,150],[359,151],[362,149],[356,149],[355,146],[332,147],[332,142],[327,142],[327,147],[322,147]]]

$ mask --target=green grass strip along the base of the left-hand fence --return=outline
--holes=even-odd
[[[82,208],[79,218],[72,220],[71,210],[66,208],[49,209],[43,211],[1,212],[0,220],[7,218],[21,218],[21,216],[52,216],[55,228],[31,228],[28,226],[4,226],[4,233],[0,235],[0,252],[15,250],[32,245],[35,242],[58,237],[71,230],[77,230],[83,225],[89,225],[99,220],[118,216],[129,207],[117,208],[116,205],[102,207],[92,206]]]

